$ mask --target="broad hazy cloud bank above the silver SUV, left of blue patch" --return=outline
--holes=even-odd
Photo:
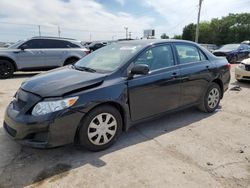
[[[6,15],[0,18],[0,40],[3,40],[7,33],[14,40],[31,37],[34,33],[38,34],[37,25],[41,25],[43,35],[57,35],[57,27],[60,26],[63,37],[81,40],[89,40],[90,35],[94,40],[124,38],[124,26],[129,27],[132,36],[141,37],[143,29],[148,28],[154,22],[153,18],[147,16],[134,17],[124,12],[110,13],[93,0],[67,2],[22,0],[22,3],[19,0],[1,0],[0,7],[1,14]],[[5,24],[5,27],[9,29],[2,30],[4,25],[2,22],[24,25]],[[30,24],[30,26],[25,24]],[[19,32],[25,28],[26,32]]]

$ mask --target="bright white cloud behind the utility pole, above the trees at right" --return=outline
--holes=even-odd
[[[151,7],[165,20],[155,26],[157,32],[173,36],[181,34],[185,25],[196,23],[198,0],[144,0],[145,6]],[[250,0],[203,0],[201,20],[220,18],[229,13],[250,12]]]

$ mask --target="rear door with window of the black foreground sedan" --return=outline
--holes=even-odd
[[[216,65],[197,46],[175,43],[181,74],[181,106],[199,102],[216,74]]]

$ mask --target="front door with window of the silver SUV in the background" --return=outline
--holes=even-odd
[[[41,44],[41,39],[31,39],[19,46],[19,49],[25,48],[15,52],[20,69],[36,69],[45,66],[45,57]]]

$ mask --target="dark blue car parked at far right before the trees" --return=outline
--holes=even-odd
[[[246,44],[226,44],[213,52],[216,56],[226,57],[230,63],[236,63],[248,57],[250,47]]]

